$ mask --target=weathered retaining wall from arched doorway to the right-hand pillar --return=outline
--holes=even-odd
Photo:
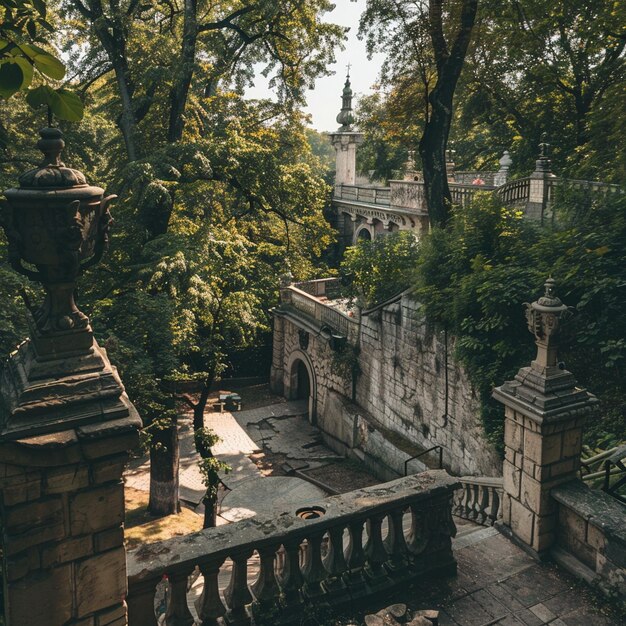
[[[308,327],[306,348],[300,331]],[[272,388],[297,397],[295,364],[310,372],[313,422],[326,443],[362,460],[381,479],[433,466],[437,454],[410,460],[440,445],[444,467],[457,475],[501,475],[501,461],[487,442],[479,401],[441,333],[419,316],[419,304],[404,295],[362,316],[360,375],[355,388],[333,367],[333,351],[310,322],[277,310],[274,325]],[[353,397],[354,392],[354,397]]]

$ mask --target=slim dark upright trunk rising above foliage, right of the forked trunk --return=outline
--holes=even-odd
[[[185,18],[180,66],[170,91],[170,119],[167,140],[180,141],[185,127],[185,108],[196,62],[196,40],[198,38],[196,0],[185,0]]]

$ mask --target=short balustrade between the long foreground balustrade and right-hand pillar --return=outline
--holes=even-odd
[[[463,476],[454,493],[452,513],[462,519],[493,526],[502,518],[502,478]]]

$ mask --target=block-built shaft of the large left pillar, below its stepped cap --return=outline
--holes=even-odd
[[[140,420],[0,444],[8,626],[124,626],[127,450]]]

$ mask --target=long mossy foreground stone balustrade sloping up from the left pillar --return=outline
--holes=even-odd
[[[144,545],[128,554],[129,626],[157,625],[155,593],[164,575],[165,624],[193,624],[188,581],[196,567],[204,579],[198,620],[215,625],[225,617],[235,626],[250,624],[253,614],[256,623],[299,623],[307,605],[341,608],[410,580],[452,574],[456,487],[456,479],[433,470]],[[253,555],[258,575],[249,583]]]

